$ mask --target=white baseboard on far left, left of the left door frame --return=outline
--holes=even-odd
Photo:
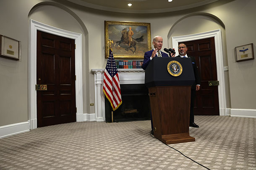
[[[29,122],[8,124],[0,127],[0,139],[29,131]]]

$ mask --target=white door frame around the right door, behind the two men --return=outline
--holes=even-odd
[[[172,37],[172,48],[178,49],[178,43],[184,41],[200,40],[204,38],[214,37],[216,65],[217,65],[217,78],[219,80],[218,94],[219,94],[219,115],[227,115],[227,105],[225,97],[225,79],[224,79],[224,66],[223,66],[223,52],[222,52],[222,39],[221,30],[212,30],[209,32],[191,34],[186,36]],[[177,53],[178,56],[178,53]]]

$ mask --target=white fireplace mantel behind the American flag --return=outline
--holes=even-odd
[[[103,79],[105,69],[91,69],[94,74],[94,103],[95,120],[105,121],[105,98],[103,93]],[[118,69],[120,84],[144,84],[145,71],[143,69]]]

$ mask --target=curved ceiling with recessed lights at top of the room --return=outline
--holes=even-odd
[[[213,3],[217,0],[68,0],[78,5],[119,13],[165,13]],[[133,4],[129,7],[127,4]]]

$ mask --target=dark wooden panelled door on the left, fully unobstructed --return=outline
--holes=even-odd
[[[75,41],[37,31],[37,127],[76,121]]]

